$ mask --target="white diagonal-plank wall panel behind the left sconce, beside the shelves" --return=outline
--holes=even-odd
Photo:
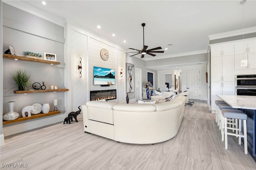
[[[86,62],[88,53],[88,36],[71,30],[71,79],[72,79],[72,111],[77,111],[79,106],[88,101],[88,83]],[[78,65],[82,58],[82,77]],[[80,107],[80,109],[82,109]]]

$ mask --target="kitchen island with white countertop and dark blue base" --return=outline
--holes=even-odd
[[[248,152],[256,162],[256,96],[217,95],[232,108],[237,108],[247,115]]]

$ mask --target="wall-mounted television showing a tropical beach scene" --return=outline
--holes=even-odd
[[[94,85],[114,85],[115,70],[103,67],[93,67]]]

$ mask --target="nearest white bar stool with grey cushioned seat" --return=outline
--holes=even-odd
[[[247,128],[246,128],[246,121],[247,121],[247,115],[243,113],[240,110],[234,110],[234,109],[222,109],[222,117],[224,119],[224,135],[225,135],[225,149],[228,149],[228,135],[232,136],[238,136],[238,143],[241,144],[241,137],[244,138],[244,153],[248,154],[248,148],[247,148]],[[238,119],[239,120],[239,127],[230,128],[227,127],[227,118],[230,119]],[[244,126],[244,134],[242,133],[242,120],[243,120],[243,126]],[[222,124],[223,125],[223,124]],[[236,130],[237,133],[230,133],[228,132],[228,129]],[[222,127],[223,131],[223,127]],[[223,141],[223,135],[222,135],[222,141]]]

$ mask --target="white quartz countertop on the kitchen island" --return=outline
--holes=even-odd
[[[256,110],[256,96],[217,95],[233,108]]]

